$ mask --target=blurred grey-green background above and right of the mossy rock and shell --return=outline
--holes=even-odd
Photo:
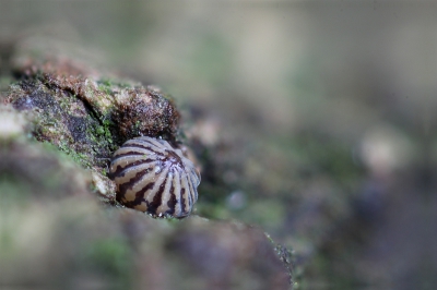
[[[197,213],[293,249],[303,288],[432,289],[436,12],[412,0],[0,0],[0,45],[5,58],[43,32],[173,95],[202,165]]]

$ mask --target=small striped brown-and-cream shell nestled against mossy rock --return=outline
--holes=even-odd
[[[184,218],[198,200],[199,171],[180,148],[164,140],[126,142],[114,154],[109,177],[118,202],[154,217]]]

